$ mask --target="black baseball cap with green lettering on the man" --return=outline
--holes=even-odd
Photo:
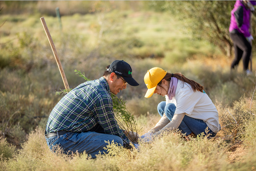
[[[134,78],[132,78],[132,68],[127,63],[124,62],[124,60],[115,60],[113,61],[108,69],[109,72],[114,72],[116,75],[122,76],[124,80],[132,85],[132,86],[138,86],[139,83],[135,81]]]

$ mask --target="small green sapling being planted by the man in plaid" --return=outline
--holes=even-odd
[[[91,81],[89,78],[85,77],[85,74],[81,73],[81,71],[77,71],[76,74],[79,75],[79,77],[83,78],[85,81]],[[60,89],[61,91],[56,91],[56,95],[66,94],[69,93],[72,89]],[[138,129],[137,123],[135,121],[134,116],[127,110],[125,102],[122,99],[119,99],[117,96],[115,96],[113,93],[111,93],[111,97],[113,100],[113,110],[115,113],[115,118],[117,120],[118,126],[124,130],[124,134],[127,136],[129,140],[132,142],[138,141],[138,133],[141,132],[141,129]],[[121,121],[119,120],[121,119]],[[123,124],[124,122],[124,124]]]

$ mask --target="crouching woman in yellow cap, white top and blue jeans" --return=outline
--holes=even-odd
[[[148,88],[145,97],[157,93],[165,96],[166,101],[158,104],[162,118],[141,138],[149,140],[167,129],[179,129],[186,136],[204,133],[214,137],[220,130],[218,111],[199,83],[158,67],[147,71],[144,82]]]

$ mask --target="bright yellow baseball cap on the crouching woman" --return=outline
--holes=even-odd
[[[167,71],[162,68],[154,67],[147,71],[144,76],[144,82],[147,85],[147,93],[145,97],[151,97],[154,94],[157,84],[165,77]]]

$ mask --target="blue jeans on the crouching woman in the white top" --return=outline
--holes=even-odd
[[[176,110],[176,106],[173,103],[166,104],[165,101],[162,101],[158,104],[157,110],[158,110],[158,113],[161,117],[165,113],[167,118],[170,121],[172,121],[174,112]],[[195,135],[205,133],[206,127],[207,127],[207,125],[203,120],[191,118],[191,117],[185,115],[183,120],[181,121],[180,126],[178,127],[178,129],[181,131],[181,133],[186,134],[186,136],[188,136],[192,132]],[[209,130],[208,133],[211,134],[211,135],[209,135],[210,137],[214,137],[216,135],[216,133],[214,133],[209,127],[208,127],[208,130]]]

